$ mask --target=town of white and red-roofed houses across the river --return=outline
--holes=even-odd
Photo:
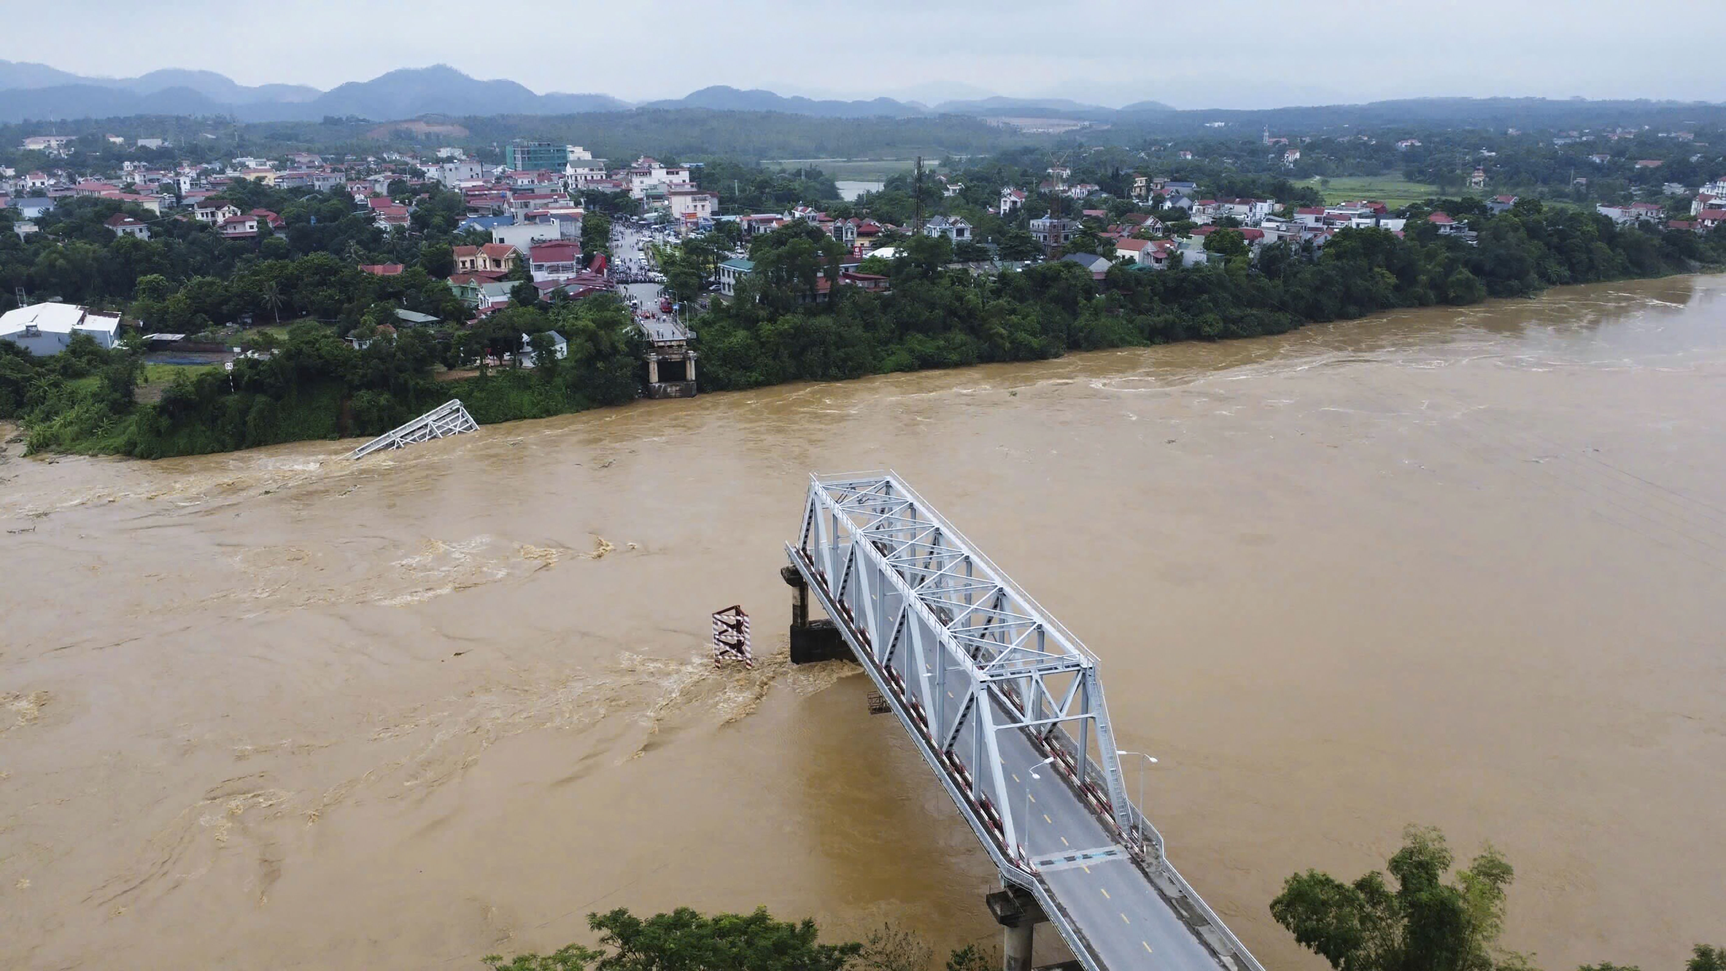
[[[126,148],[124,140],[109,141]],[[1263,143],[1282,166],[1293,167],[1301,159],[1300,147],[1289,145],[1286,138],[1272,138],[1269,129]],[[1400,152],[1419,147],[1420,141],[1414,138],[1396,143]],[[1210,245],[1210,236],[1220,231],[1238,235],[1248,252],[1276,243],[1320,250],[1343,229],[1372,228],[1402,236],[1408,231],[1410,219],[1370,198],[1293,205],[1276,198],[1208,197],[1196,181],[1143,172],[1134,172],[1125,198],[1115,200],[1099,185],[1075,179],[1072,167],[1055,164],[1041,179],[1034,179],[1036,185],[1027,181],[1003,186],[998,200],[987,207],[987,216],[1022,219],[1036,245],[1032,252],[1003,254],[998,240],[979,238],[977,228],[958,214],[932,212],[913,224],[892,224],[858,214],[866,212],[866,197],[860,207],[849,207],[851,214],[841,216],[813,205],[794,205],[784,212],[727,212],[721,195],[701,185],[701,164],[666,164],[647,155],[628,164],[609,164],[582,147],[549,141],[504,145],[501,164],[487,164],[463,148],[444,147],[340,159],[293,152],[283,157],[242,155],[221,164],[159,166],[128,160],[116,171],[100,172],[79,167],[67,136],[29,136],[21,148],[43,153],[50,164],[28,171],[0,167],[0,209],[12,212],[12,231],[19,238],[38,233],[38,221],[69,198],[100,198],[121,204],[123,210],[105,221],[116,236],[150,240],[164,221],[190,221],[209,226],[223,240],[255,245],[262,236],[281,229],[283,217],[269,209],[230,202],[224,190],[240,179],[276,190],[347,195],[356,210],[366,214],[385,235],[411,233],[416,204],[426,193],[459,193],[463,222],[456,233],[469,241],[454,247],[454,269],[447,276],[447,286],[468,309],[466,323],[520,300],[518,285],[523,279],[532,283],[542,302],[620,293],[637,314],[642,331],[652,338],[651,343],[678,360],[689,360],[689,379],[670,392],[661,390],[663,393],[694,393],[694,338],[680,323],[683,307],[658,286],[663,278],[656,274],[652,247],[708,235],[723,224],[734,226],[727,238],[735,243],[728,259],[716,264],[702,302],[734,298],[740,281],[754,271],[747,257],[749,241],[792,222],[816,228],[846,254],[837,276],[823,276],[809,297],[825,300],[832,286],[887,291],[891,281],[880,273],[884,260],[898,255],[898,241],[917,233],[942,236],[954,245],[954,252],[970,252],[972,259],[965,266],[979,273],[1067,260],[1101,281],[1117,266],[1160,271],[1225,259],[1225,250]],[[171,150],[171,145],[159,138],[138,138],[135,148],[161,153]],[[1179,150],[1175,155],[1191,159],[1193,152]],[[1471,190],[1481,195],[1490,191],[1486,162],[1469,176]],[[1695,233],[1709,233],[1726,222],[1726,178],[1695,190],[1678,185],[1666,188],[1667,195],[1683,193],[1691,200],[1686,217],[1671,219],[1671,207],[1655,202],[1600,204],[1595,209],[1617,224],[1643,222]],[[930,190],[935,198],[953,198],[965,185],[949,174],[934,174]],[[618,235],[613,243],[627,243],[627,252],[583,254],[583,204],[595,200],[604,202],[611,214],[625,214],[623,222],[632,229]],[[1032,202],[1039,204],[1039,214],[1024,219],[1024,210]],[[1125,202],[1127,210],[1122,205],[1112,209],[1106,205],[1110,202]],[[1493,195],[1486,200],[1486,209],[1502,212],[1515,204],[1515,195]],[[1474,238],[1465,219],[1443,210],[1415,217],[1441,236],[1464,241]],[[1091,245],[1080,248],[1079,240]],[[979,255],[984,259],[975,259]],[[865,260],[870,259],[875,262],[866,267]],[[359,262],[357,267],[383,278],[406,269],[399,262]],[[26,295],[21,293],[17,302],[26,304]],[[59,328],[60,343],[74,328],[100,331],[104,345],[117,340],[119,316],[90,312],[79,317],[88,324],[69,324],[72,316],[64,312],[52,321],[45,317],[24,324],[21,316],[9,314],[10,329],[19,333],[0,329],[0,340],[22,340],[24,326],[33,328],[31,333],[43,326]],[[400,310],[397,323],[416,326],[440,321]],[[45,345],[38,341],[33,347]]]

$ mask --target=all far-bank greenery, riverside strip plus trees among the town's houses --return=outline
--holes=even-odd
[[[1697,235],[1654,224],[1619,226],[1572,205],[1522,198],[1491,212],[1479,198],[1431,198],[1407,207],[1407,231],[1341,229],[1322,248],[1250,247],[1227,219],[1203,241],[1205,266],[1169,269],[1041,255],[1029,219],[1060,205],[1037,195],[1011,216],[989,212],[999,190],[1032,185],[1048,164],[1013,150],[956,169],[942,191],[932,179],[892,176],[860,204],[827,205],[835,217],[908,222],[960,216],[977,240],[899,236],[896,259],[870,259],[865,273],[884,290],[839,279],[842,247],[801,219],[749,243],[754,273],[735,298],[704,300],[704,285],[735,245],[713,233],[658,252],[668,288],[699,333],[702,390],[784,381],[832,381],[984,362],[1036,360],[1070,350],[1277,335],[1307,323],[1362,317],[1398,307],[1465,305],[1526,297],[1546,286],[1650,278],[1726,266],[1726,231]],[[1208,191],[1317,204],[1320,186],[1279,172],[1212,171],[1194,164]],[[1068,254],[1113,257],[1110,222],[1139,212],[1169,233],[1191,231],[1187,212],[1125,198],[1131,169],[1087,159],[1075,178],[1094,178],[1110,198],[1084,216]],[[794,174],[735,162],[702,169],[737,198],[780,209],[832,193],[818,169]],[[192,219],[155,217],[116,200],[69,198],[21,236],[0,212],[0,309],[12,290],[102,309],[121,309],[145,331],[193,335],[247,350],[231,371],[143,366],[135,343],[102,350],[78,341],[62,355],[31,359],[0,345],[0,419],[26,428],[33,452],[183,455],[306,438],[375,435],[450,397],[482,423],[544,417],[632,400],[640,386],[640,345],[628,310],[613,297],[540,304],[521,283],[516,304],[480,321],[447,283],[464,202],[433,185],[388,183],[413,200],[411,226],[380,229],[345,195],[276,190],[235,179],[224,198],[259,210],[255,240],[224,240]],[[625,200],[611,205],[627,209]],[[1448,212],[1446,231],[1426,217]],[[124,212],[152,238],[116,236],[104,222]],[[273,226],[274,224],[274,226]],[[1457,233],[1465,228],[1467,233]],[[609,221],[590,212],[583,248],[604,252]],[[891,238],[892,233],[887,233]],[[991,252],[982,241],[994,247]],[[362,266],[388,266],[368,273]],[[373,269],[381,269],[373,266]],[[404,323],[435,319],[435,324]],[[568,340],[568,357],[551,352]],[[219,343],[217,343],[219,341]],[[520,367],[526,359],[540,367]],[[494,364],[507,362],[494,369]],[[140,383],[147,381],[143,395]]]

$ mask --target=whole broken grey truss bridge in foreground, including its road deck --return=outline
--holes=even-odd
[[[785,552],[1087,971],[1263,971],[1129,799],[1096,655],[898,474],[813,476]]]

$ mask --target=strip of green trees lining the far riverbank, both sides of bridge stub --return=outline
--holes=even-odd
[[[1251,254],[1239,233],[1206,240],[1212,266],[1143,271],[1117,266],[1103,281],[1074,262],[973,276],[949,269],[939,238],[901,245],[882,267],[891,293],[837,285],[837,243],[796,224],[751,245],[756,271],[739,297],[694,321],[704,390],[834,381],[967,364],[1034,360],[1067,350],[1277,335],[1305,323],[1396,307],[1528,297],[1546,286],[1695,273],[1726,264],[1726,233],[1621,228],[1538,202],[1491,216],[1474,200],[1445,200],[1476,241],[1438,233],[1417,207],[1410,229],[1345,229],[1319,250],[1288,245]],[[666,254],[673,281],[699,279],[711,248]],[[832,297],[832,298],[828,298]],[[545,350],[545,331],[570,341]],[[514,350],[530,335],[540,367],[437,381],[438,362]],[[511,307],[473,329],[438,338],[404,329],[362,348],[302,323],[269,359],[231,373],[181,374],[154,404],[136,400],[133,350],[79,340],[33,359],[0,341],[0,419],[19,419],[31,452],[136,457],[224,452],[255,445],[381,433],[450,397],[488,424],[623,404],[639,390],[640,347],[628,310],[611,297]]]

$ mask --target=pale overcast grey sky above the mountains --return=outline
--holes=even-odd
[[[1274,107],[1420,95],[1726,100],[1726,0],[55,0],[0,59],[331,88],[450,64],[535,91]],[[495,22],[492,22],[495,17]],[[1697,47],[1686,47],[1695,38]]]

